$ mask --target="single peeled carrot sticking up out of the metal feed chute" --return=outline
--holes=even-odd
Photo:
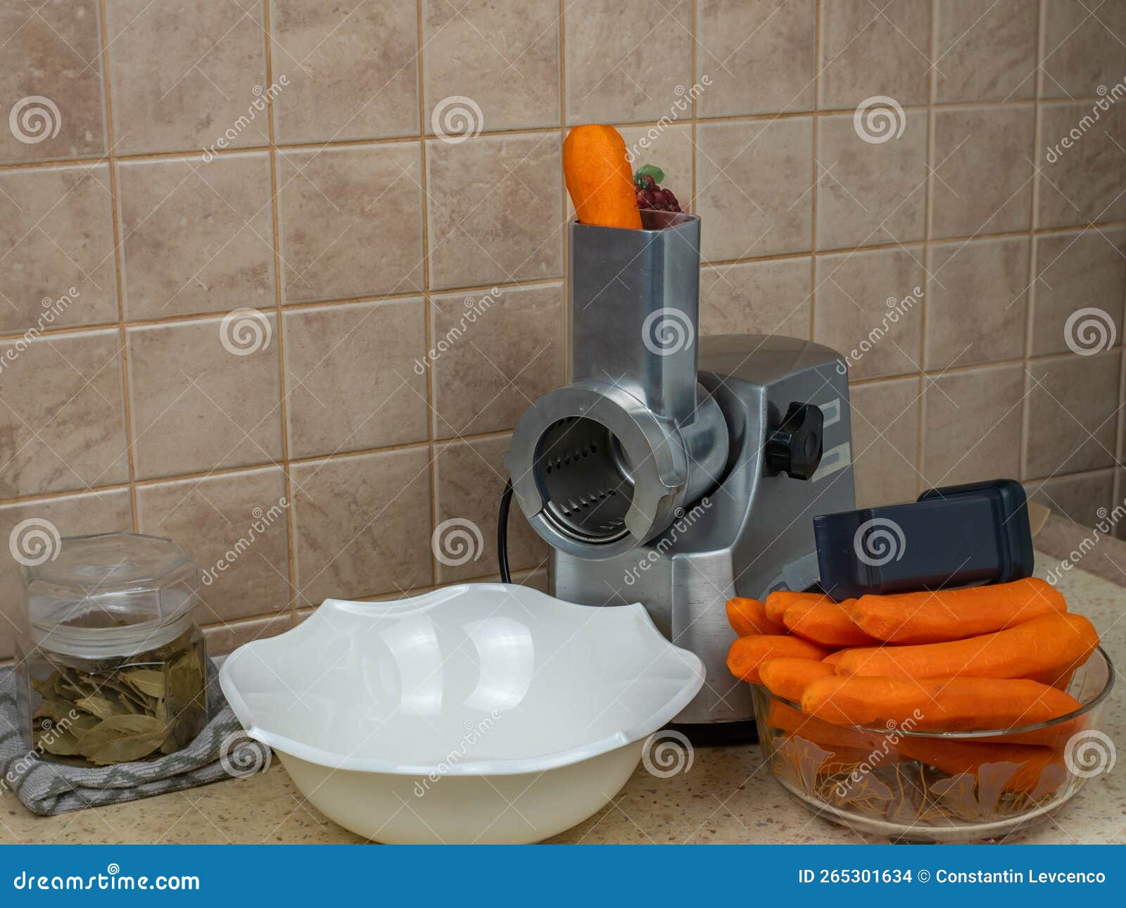
[[[641,230],[626,143],[613,126],[575,126],[563,142],[563,180],[579,223]]]

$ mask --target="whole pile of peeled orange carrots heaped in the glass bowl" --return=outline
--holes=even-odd
[[[767,724],[834,753],[879,745],[856,725],[1004,732],[1066,715],[1081,705],[1066,693],[1072,674],[1099,644],[1091,622],[1036,578],[840,603],[778,591],[729,599],[727,620],[739,634],[727,667],[775,695]],[[984,741],[903,736],[895,748],[949,773],[1021,764],[1007,787],[1031,790],[1082,721]]]

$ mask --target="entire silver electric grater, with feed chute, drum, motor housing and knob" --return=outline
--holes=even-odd
[[[725,603],[816,582],[813,517],[854,507],[847,368],[805,340],[699,338],[699,219],[642,219],[570,224],[571,383],[525,411],[504,463],[553,594],[642,603],[705,664],[676,722],[744,723]]]

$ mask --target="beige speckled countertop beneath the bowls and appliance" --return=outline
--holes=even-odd
[[[1091,531],[1052,518],[1037,535],[1044,576]],[[1075,612],[1091,617],[1119,667],[1126,665],[1126,544],[1103,540],[1057,582]],[[1101,576],[1099,576],[1101,575]],[[1121,677],[1119,676],[1119,680]],[[1126,697],[1116,689],[1105,731],[1126,741]],[[638,767],[613,803],[555,843],[856,843],[857,833],[815,817],[762,768],[757,745],[697,748],[691,768],[656,778]],[[883,839],[868,839],[883,840]],[[1090,780],[1043,825],[1009,842],[1126,844],[1126,771]],[[275,760],[232,778],[116,807],[36,817],[0,794],[0,843],[355,843],[322,817]]]

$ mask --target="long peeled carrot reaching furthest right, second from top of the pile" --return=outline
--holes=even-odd
[[[914,647],[856,649],[837,661],[839,675],[911,678],[1033,678],[1053,684],[1099,644],[1082,615],[1043,615],[991,634]]]

